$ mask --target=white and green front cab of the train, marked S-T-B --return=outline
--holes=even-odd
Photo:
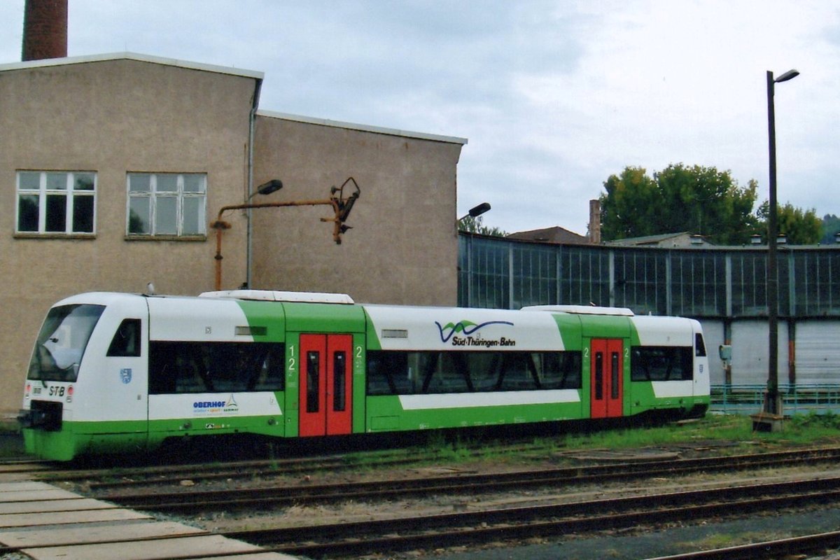
[[[135,387],[132,378],[137,381],[144,373],[132,367],[138,364],[128,363],[131,356],[139,355],[140,332],[132,327],[139,321],[123,321],[125,302],[114,301],[115,297],[73,296],[48,311],[29,360],[23,406],[18,414],[27,453],[68,461],[92,446],[136,448],[144,444],[145,418],[139,414],[136,419],[125,417],[113,422],[108,418],[112,421],[103,422],[108,416],[105,409],[133,414],[133,407],[145,405],[143,394],[132,395],[130,400],[134,402],[118,403],[120,399],[110,390],[112,385]],[[134,306],[137,311],[145,307],[140,298]],[[107,337],[103,336],[105,332]],[[115,379],[107,379],[112,364],[104,357],[113,355],[123,356],[122,363],[113,375]]]

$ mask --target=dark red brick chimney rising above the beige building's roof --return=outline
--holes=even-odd
[[[67,0],[26,0],[21,60],[67,55]]]

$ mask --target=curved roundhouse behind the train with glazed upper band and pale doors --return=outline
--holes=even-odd
[[[760,390],[768,377],[767,246],[704,247],[687,233],[655,237],[598,245],[462,232],[459,306],[596,305],[696,318],[712,383]],[[687,243],[676,246],[680,240]],[[780,383],[840,384],[840,243],[783,244],[776,265]],[[721,344],[732,345],[727,369]]]

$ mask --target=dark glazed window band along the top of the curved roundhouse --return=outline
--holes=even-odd
[[[628,248],[461,233],[459,306],[628,307],[637,314],[767,317],[767,248]],[[780,317],[840,316],[840,245],[782,247]]]

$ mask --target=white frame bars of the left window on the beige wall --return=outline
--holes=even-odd
[[[21,177],[23,175],[38,174],[38,188],[21,188]],[[50,186],[48,177],[50,175],[65,175],[63,187]],[[76,178],[81,178],[81,175],[90,175],[93,179],[92,189],[77,189]],[[14,231],[18,235],[37,235],[37,236],[90,236],[93,237],[97,233],[97,172],[96,171],[68,171],[68,170],[18,170],[15,174],[15,212],[14,212]],[[20,212],[21,198],[23,196],[37,196],[38,197],[38,229],[36,230],[21,230],[20,229]],[[47,210],[48,199],[50,196],[65,196],[65,228],[64,230],[48,230],[47,229]],[[75,231],[73,229],[73,218],[75,215],[76,201],[81,197],[92,197],[91,205],[91,231]]]

